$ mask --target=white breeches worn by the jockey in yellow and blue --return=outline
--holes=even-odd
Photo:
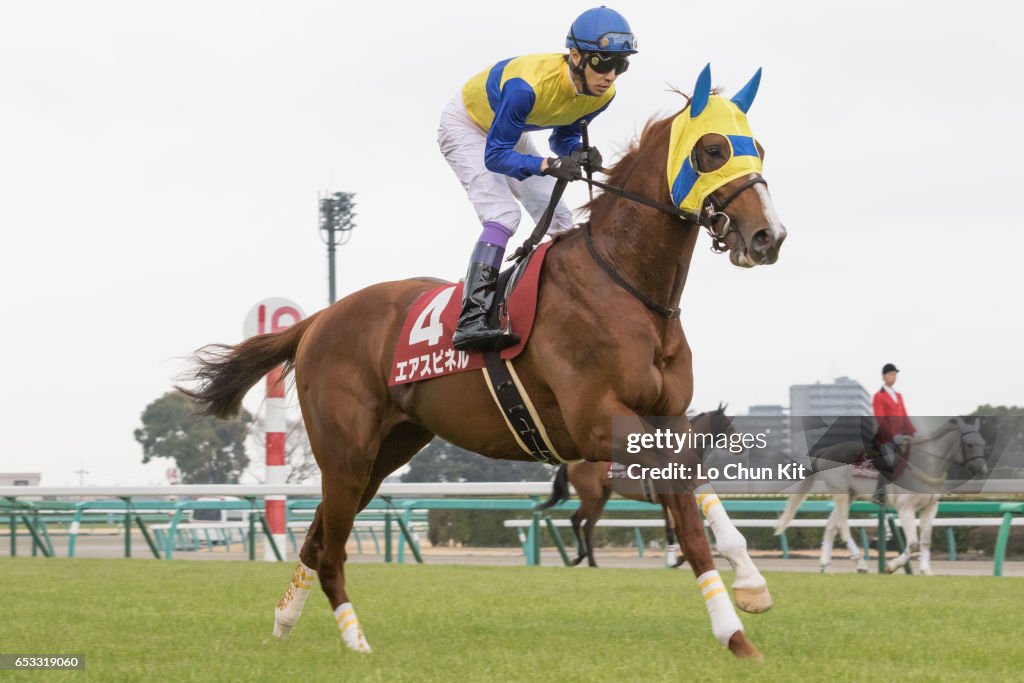
[[[555,179],[548,175],[534,175],[516,180],[507,175],[493,173],[483,165],[487,134],[469,118],[462,94],[456,96],[441,112],[437,128],[437,144],[444,160],[455,171],[459,182],[466,189],[469,201],[476,209],[480,224],[497,221],[515,232],[519,226],[518,200],[530,217],[539,221],[551,201]],[[519,138],[515,151],[519,154],[543,157],[525,133]],[[563,232],[572,227],[572,213],[559,202],[548,228],[548,234]]]

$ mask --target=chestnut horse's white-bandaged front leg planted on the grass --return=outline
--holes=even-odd
[[[687,561],[693,567],[697,586],[703,596],[705,606],[711,616],[711,629],[715,638],[740,658],[763,659],[761,652],[743,635],[743,624],[729,600],[722,578],[715,568],[703,532],[703,521],[690,494],[675,494],[662,497],[663,504],[672,512],[676,520],[676,533],[683,547]]]

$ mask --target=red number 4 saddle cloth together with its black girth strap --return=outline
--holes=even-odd
[[[391,362],[390,386],[464,373],[484,371],[492,396],[519,446],[535,459],[557,465],[563,462],[544,430],[512,368],[511,359],[526,347],[537,316],[537,293],[544,257],[552,242],[540,245],[529,256],[498,278],[501,301],[492,310],[492,323],[510,326],[520,341],[501,351],[459,351],[452,336],[462,308],[464,283],[441,285],[420,295],[410,307]],[[503,315],[504,313],[504,315]]]

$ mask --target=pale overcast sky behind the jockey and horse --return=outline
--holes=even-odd
[[[317,193],[356,193],[340,294],[462,276],[479,227],[440,111],[499,59],[561,51],[589,6],[0,3],[0,471],[162,482],[132,431],[187,354],[240,341],[263,298],[326,305]],[[592,126],[605,159],[706,62],[726,94],[764,68],[750,120],[790,237],[752,270],[701,238],[694,408],[841,375],[873,391],[887,361],[911,413],[1024,403],[1019,9],[612,6],[640,53]]]

